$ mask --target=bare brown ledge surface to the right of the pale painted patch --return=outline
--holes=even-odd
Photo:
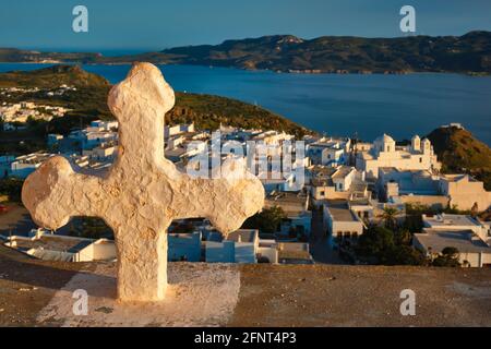
[[[416,292],[403,316],[400,291]],[[229,326],[491,326],[491,270],[253,265]]]

